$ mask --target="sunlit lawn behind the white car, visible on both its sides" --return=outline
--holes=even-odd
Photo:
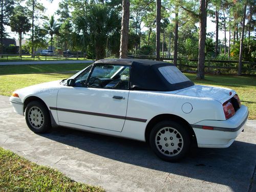
[[[67,63],[52,65],[0,66],[0,95],[10,96],[13,91],[19,88],[24,88],[41,82],[68,78],[75,73],[74,70],[81,70],[88,65],[88,63]],[[61,73],[61,71],[70,71],[70,73]],[[256,119],[256,101],[254,99],[254,96],[256,95],[255,76],[239,77],[236,75],[205,75],[205,80],[197,80],[195,74],[185,75],[197,84],[226,87],[235,90],[238,93],[242,104],[249,108],[249,119]]]

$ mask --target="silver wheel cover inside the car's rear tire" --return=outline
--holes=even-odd
[[[155,143],[158,151],[168,157],[178,155],[184,145],[182,135],[173,127],[160,129],[156,134]]]

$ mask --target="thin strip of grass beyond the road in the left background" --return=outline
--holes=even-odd
[[[31,58],[30,55],[24,55],[22,58],[19,56],[4,56],[3,58],[0,57],[0,62],[13,62],[13,61],[55,61],[55,60],[91,60],[83,57],[62,57],[62,56],[35,56],[35,58]]]

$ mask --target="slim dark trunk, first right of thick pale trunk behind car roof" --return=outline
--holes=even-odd
[[[161,21],[161,0],[156,0],[156,60],[160,60],[160,21]]]

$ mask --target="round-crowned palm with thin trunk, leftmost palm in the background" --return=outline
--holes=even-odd
[[[30,30],[30,23],[27,13],[22,6],[16,6],[14,9],[14,13],[10,17],[10,27],[11,31],[18,33],[19,39],[19,56],[22,56],[22,34],[26,34]]]

